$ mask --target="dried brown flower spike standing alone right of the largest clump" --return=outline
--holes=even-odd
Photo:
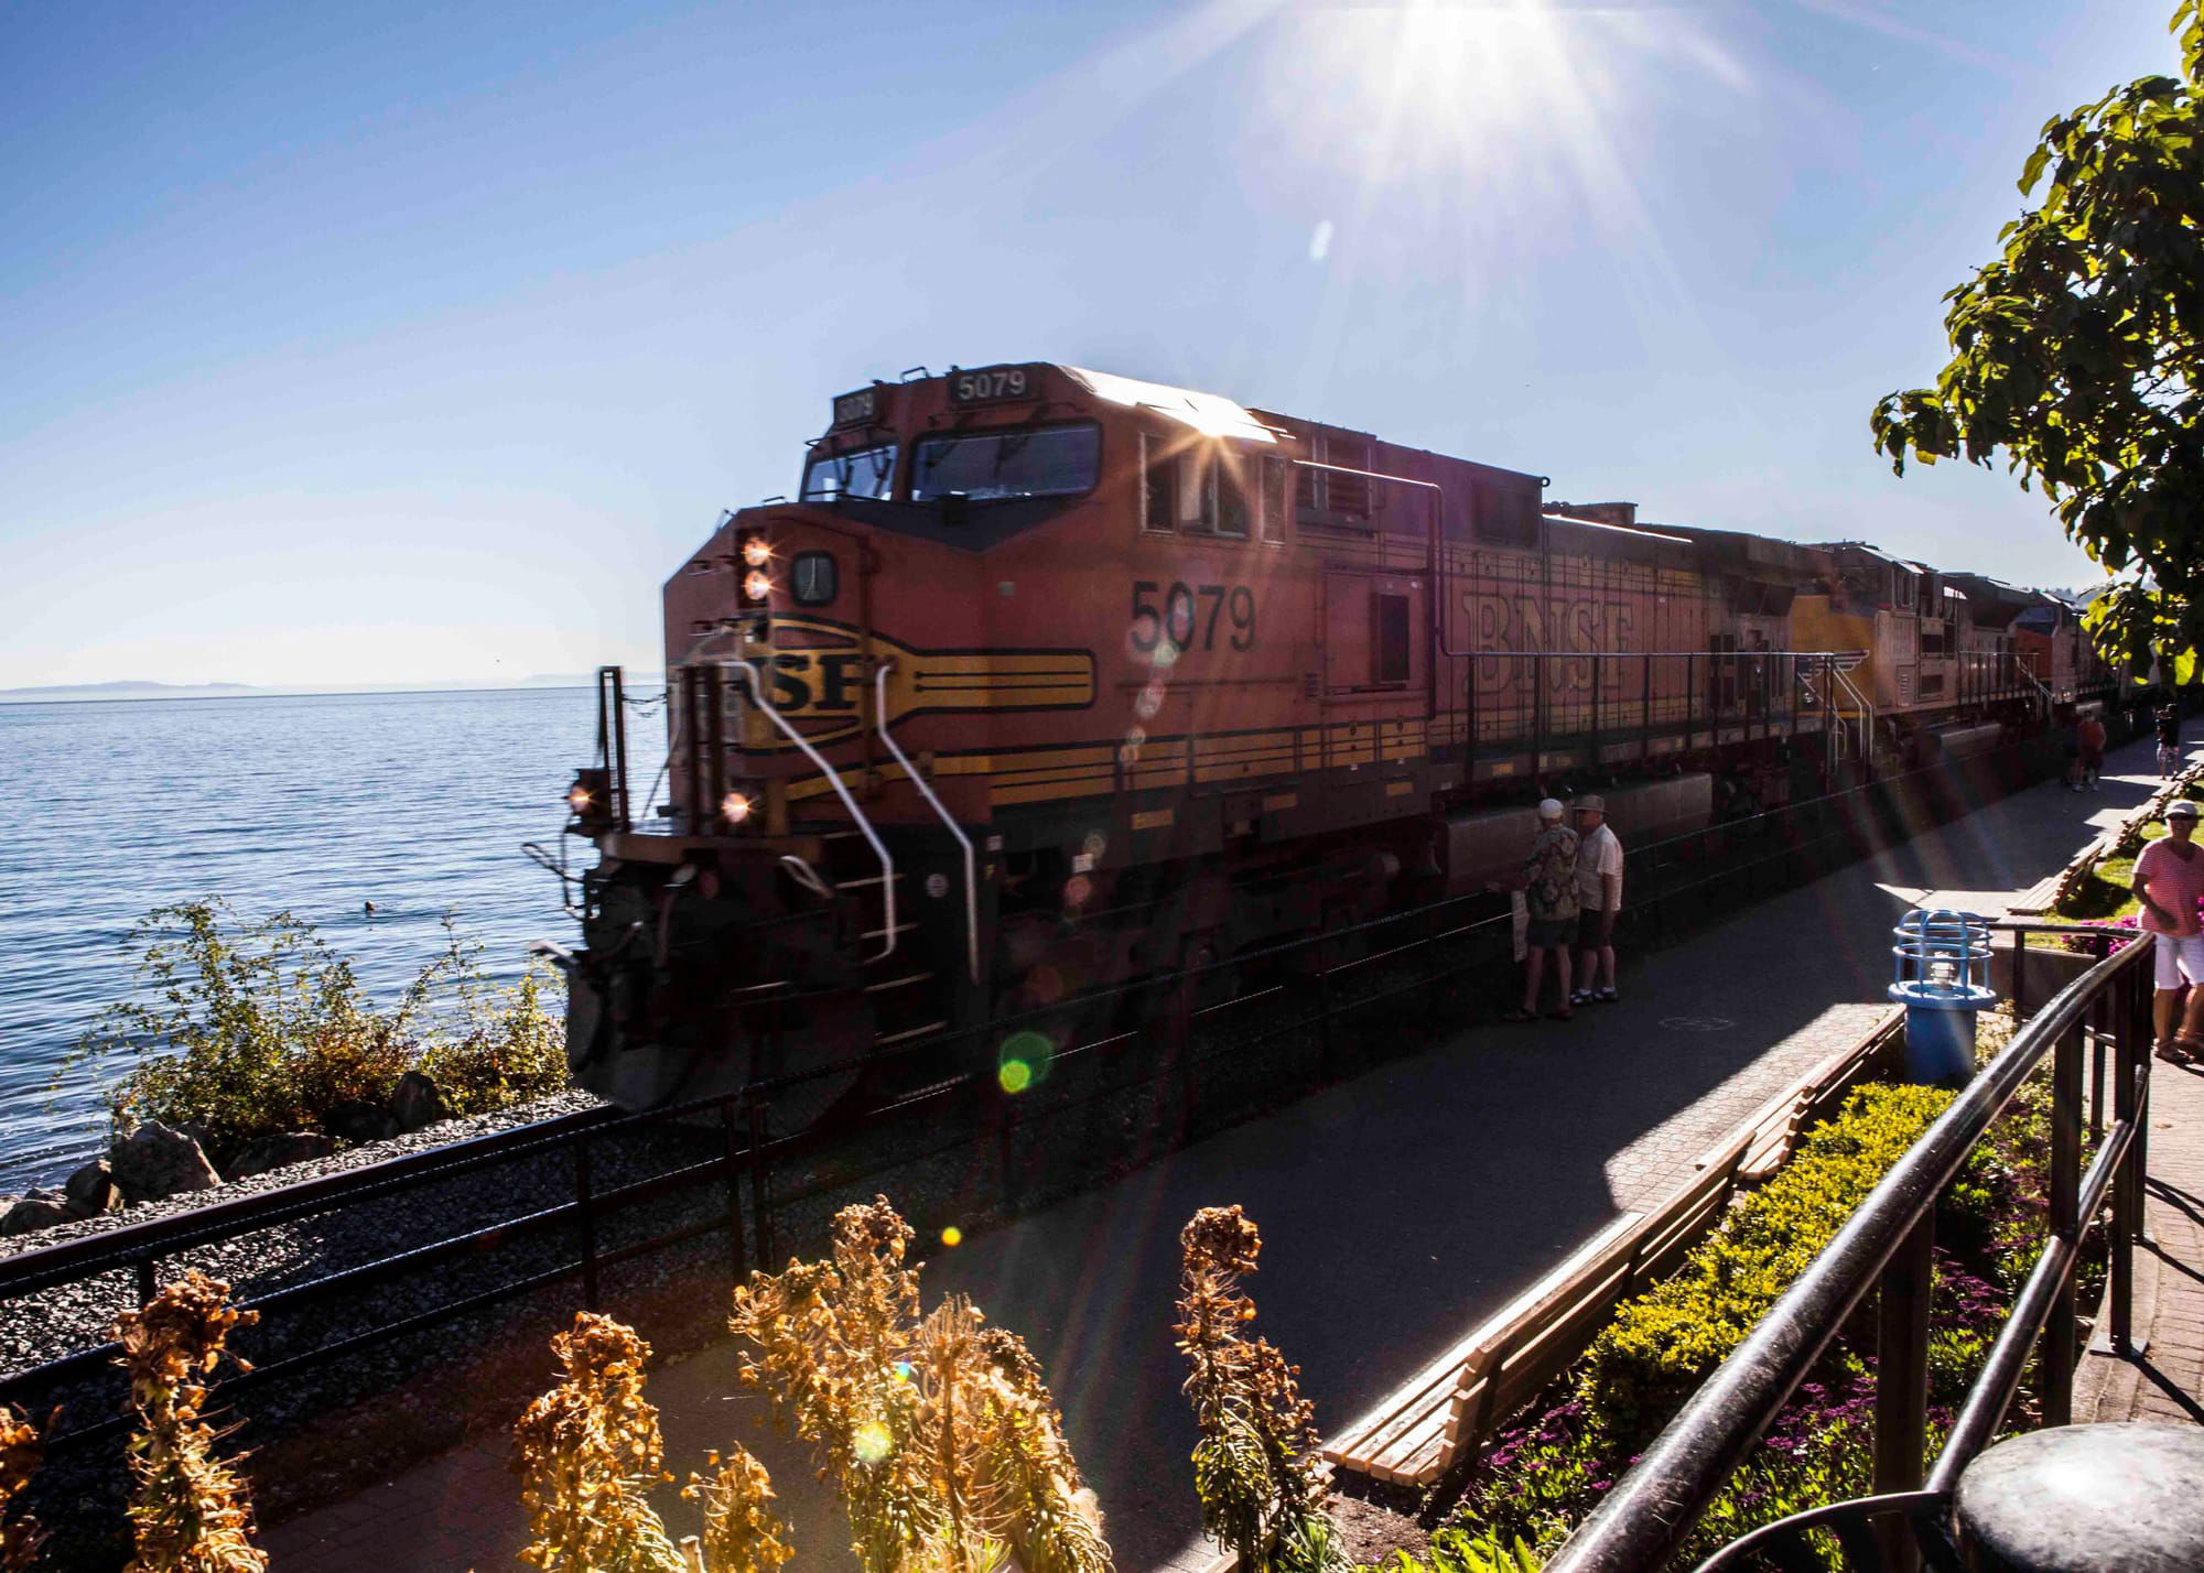
[[[1254,1300],[1239,1282],[1256,1269],[1263,1236],[1239,1207],[1203,1207],[1179,1232],[1179,1350],[1192,1370],[1201,1443],[1195,1491],[1201,1529],[1252,1573],[1344,1569],[1325,1511],[1316,1408],[1300,1397],[1300,1366],[1270,1339],[1245,1337]]]

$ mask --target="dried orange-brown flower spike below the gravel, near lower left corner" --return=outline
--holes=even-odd
[[[218,1434],[201,1417],[201,1381],[227,1353],[229,1335],[260,1320],[229,1304],[229,1284],[190,1271],[141,1311],[115,1317],[121,1366],[139,1432],[130,1439],[130,1525],[137,1555],[126,1573],[262,1573],[245,1483],[214,1456]],[[240,1370],[251,1370],[229,1355]]]

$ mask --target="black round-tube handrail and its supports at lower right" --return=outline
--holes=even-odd
[[[1884,1269],[1911,1267],[1902,1254],[1915,1260],[1926,1258],[1926,1229],[1937,1196],[2045,1055],[2056,1060],[2052,1077],[2054,1238],[2014,1302],[2006,1333],[1992,1348],[1981,1377],[1977,1377],[1970,1401],[1931,1476],[1931,1489],[1948,1491],[1973,1452],[1995,1434],[2019,1384],[2030,1344],[2041,1342],[2045,1355],[2045,1421],[2065,1423],[2063,1408],[2070,1397],[2074,1359],[2072,1320],[2061,1326],[2054,1311],[2072,1302],[2076,1236],[2107,1190],[2114,1198],[2114,1333],[2118,1339],[2127,1337],[2125,1298],[2140,1227],[2142,1148],[2138,1137],[2149,1117],[2149,1029],[2144,1024],[2149,1022],[2149,1000],[2138,998],[2149,980],[2149,969],[2140,965],[2147,950],[2147,945],[2127,945],[2096,963],[2014,1033],[2003,1053],[1953,1099],[1876,1185],[1823,1254],[1746,1335],[1746,1342],[1699,1386],[1682,1412],[1646,1447],[1638,1465],[1616,1483],[1616,1489],[1563,1544],[1547,1564],[1547,1573],[1651,1573],[1651,1569],[1666,1566],[1690,1536],[1699,1514],[1743,1463],[1746,1452],[1809,1375],[1845,1317],[1878,1287],[1878,1280],[1884,1289],[1884,1335],[1895,1322],[1911,1317],[1917,1324],[1917,1337],[1926,1339],[1929,1284],[1911,1284],[1911,1295],[1893,1293]],[[2118,1117],[2092,1165],[2089,1181],[2083,1183],[2078,1176],[2081,1033],[2092,1024],[2092,1013],[2098,1018],[2098,1031],[2109,1027],[2114,1038]],[[1915,1273],[1915,1278],[1926,1278],[1926,1273]],[[1891,1379],[1889,1353],[1880,1366],[1884,1379],[1876,1388],[1878,1441],[1893,1425],[1909,1421],[1917,1425],[1926,1399],[1926,1370],[1920,1368],[1920,1362],[1913,1362],[1909,1370],[1911,1381]],[[1898,1469],[1913,1478],[1887,1478]],[[1878,1498],[1812,1509],[1785,1522],[1790,1529],[1805,1529],[1807,1520],[1812,1527],[1821,1527],[1840,1507],[1862,1514],[1884,1511],[1876,1503],[1882,1496],[1909,1494],[1920,1487],[1920,1469],[1917,1441],[1911,1461],[1891,1463],[1891,1454],[1878,1447]],[[1913,1522],[1920,1522],[1917,1514]],[[1931,1555],[1937,1551],[1931,1547]],[[1719,1558],[1717,1564],[1721,1564]]]

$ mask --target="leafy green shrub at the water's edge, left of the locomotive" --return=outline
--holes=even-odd
[[[123,941],[150,998],[101,1011],[75,1057],[132,1055],[108,1088],[117,1130],[145,1119],[192,1126],[216,1165],[339,1104],[383,1102],[414,1066],[454,1113],[564,1086],[564,1033],[542,1009],[540,978],[491,989],[480,945],[450,919],[445,932],[445,954],[395,1007],[375,1009],[353,963],[304,919],[245,923],[212,899],[156,908]]]

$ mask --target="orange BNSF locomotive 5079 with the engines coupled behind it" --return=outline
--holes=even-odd
[[[853,1062],[1479,890],[1547,793],[1657,837],[2107,685],[2052,597],[1543,487],[1073,366],[835,399],[666,584],[663,806],[602,681],[577,1080]]]

